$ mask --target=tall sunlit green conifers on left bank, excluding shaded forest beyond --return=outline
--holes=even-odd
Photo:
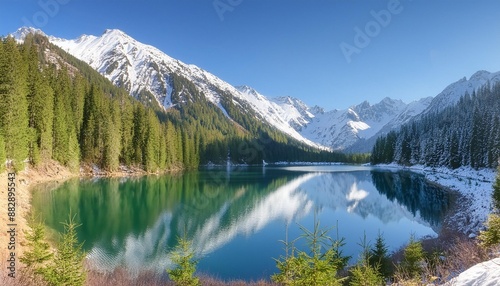
[[[111,83],[85,78],[47,45],[39,36],[0,43],[1,162],[20,170],[52,159],[72,170],[87,163],[110,171],[120,163],[147,171],[195,164],[180,126],[160,122]]]

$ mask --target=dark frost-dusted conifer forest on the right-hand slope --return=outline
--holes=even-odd
[[[440,112],[377,139],[371,162],[495,168],[500,158],[500,84],[486,84]]]

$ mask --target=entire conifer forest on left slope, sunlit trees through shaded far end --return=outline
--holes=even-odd
[[[148,92],[131,97],[40,35],[0,42],[0,162],[20,170],[56,160],[74,171],[120,165],[148,172],[200,164],[363,162],[307,146],[262,123],[218,91],[227,116],[187,79],[173,75],[178,104],[164,110]],[[3,164],[2,164],[3,167]]]

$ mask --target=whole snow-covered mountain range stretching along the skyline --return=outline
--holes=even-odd
[[[22,40],[29,33],[45,35],[34,28],[20,28],[12,35]],[[376,138],[397,129],[402,124],[424,114],[443,110],[456,104],[466,92],[488,82],[500,81],[500,72],[478,71],[450,84],[438,95],[411,103],[384,98],[371,104],[367,101],[347,109],[325,111],[319,106],[309,107],[293,97],[269,98],[249,86],[233,86],[208,71],[174,59],[159,49],[138,42],[116,29],[104,31],[100,36],[82,35],[77,39],[48,36],[59,46],[108,78],[113,84],[125,88],[134,97],[147,92],[153,104],[168,110],[188,100],[189,95],[173,97],[173,77],[188,79],[206,99],[220,108],[229,95],[232,103],[243,112],[251,112],[259,120],[310,146],[347,152],[370,152]]]

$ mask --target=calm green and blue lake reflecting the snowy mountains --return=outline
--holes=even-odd
[[[435,236],[451,207],[449,193],[408,171],[364,166],[221,167],[184,174],[73,179],[39,186],[33,209],[49,233],[69,213],[91,264],[132,275],[171,265],[177,236],[193,241],[198,271],[222,279],[269,279],[280,240],[297,238],[314,221],[345,238],[354,263],[363,236],[382,233],[390,251],[411,234]]]

